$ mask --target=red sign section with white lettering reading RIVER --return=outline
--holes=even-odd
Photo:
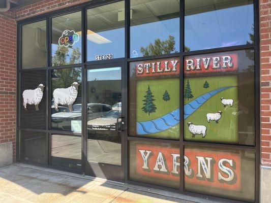
[[[185,74],[236,71],[238,69],[238,55],[231,53],[188,57],[185,58],[184,63]]]

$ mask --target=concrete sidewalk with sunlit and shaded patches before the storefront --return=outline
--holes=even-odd
[[[19,163],[0,168],[0,199],[5,203],[214,202]]]

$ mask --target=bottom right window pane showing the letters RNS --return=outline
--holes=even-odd
[[[253,150],[185,147],[185,190],[254,201]]]

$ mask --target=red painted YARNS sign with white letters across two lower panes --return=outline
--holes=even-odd
[[[136,173],[141,176],[179,180],[178,148],[136,145]],[[240,156],[236,153],[186,149],[185,183],[226,190],[240,190]]]

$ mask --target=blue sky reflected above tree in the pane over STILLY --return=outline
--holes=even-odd
[[[140,47],[145,48],[150,43],[154,43],[156,39],[165,41],[170,35],[175,38],[175,50],[179,52],[179,18],[131,26],[130,32],[131,58],[137,57],[137,55],[133,55],[133,51],[136,51],[140,57],[142,56]]]

